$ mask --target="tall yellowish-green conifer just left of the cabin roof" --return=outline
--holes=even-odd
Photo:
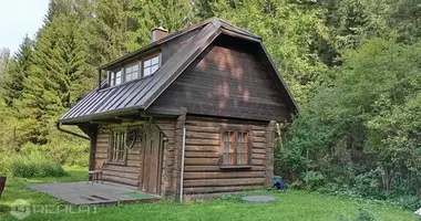
[[[83,45],[75,14],[54,17],[40,33],[18,115],[32,143],[45,143],[51,123],[90,87]]]

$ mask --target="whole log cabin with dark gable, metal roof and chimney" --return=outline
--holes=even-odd
[[[261,38],[216,18],[160,28],[99,70],[58,127],[89,136],[90,170],[104,180],[176,198],[271,185],[276,124],[297,105]]]

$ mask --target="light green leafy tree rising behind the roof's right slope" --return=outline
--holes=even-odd
[[[216,15],[263,36],[295,98],[306,105],[318,84],[329,81],[319,59],[320,42],[330,44],[320,9],[287,0],[197,1],[201,13]]]

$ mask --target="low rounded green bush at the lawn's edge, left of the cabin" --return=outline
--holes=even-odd
[[[68,172],[60,164],[53,162],[39,154],[17,157],[10,168],[13,176],[23,178],[68,176]]]

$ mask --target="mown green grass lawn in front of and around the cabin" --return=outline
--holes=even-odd
[[[64,178],[21,179],[11,178],[0,200],[0,220],[18,220],[10,214],[10,206],[17,199],[23,199],[32,204],[49,204],[54,208],[64,208],[63,202],[38,193],[25,188],[27,183],[81,181],[86,179],[86,171],[78,168],[68,168],[71,176]],[[322,196],[314,192],[288,190],[284,193],[259,191],[277,198],[275,202],[265,204],[243,203],[239,196],[223,197],[222,199],[192,201],[184,204],[163,200],[154,203],[121,204],[114,207],[91,208],[79,212],[73,208],[60,213],[31,213],[24,220],[340,220],[341,215],[352,218],[360,208],[370,211],[377,220],[417,220],[411,211],[396,207],[370,203],[360,200]],[[246,193],[243,193],[246,194]],[[86,209],[86,208],[84,208]],[[94,213],[93,213],[94,212]]]

